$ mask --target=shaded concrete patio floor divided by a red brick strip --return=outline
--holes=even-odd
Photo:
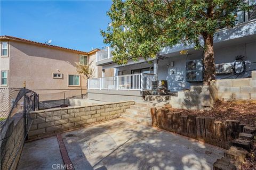
[[[79,169],[212,169],[220,148],[122,118],[62,133],[69,158]],[[55,137],[28,142],[18,169],[63,164]]]

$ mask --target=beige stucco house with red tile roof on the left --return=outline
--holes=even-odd
[[[77,74],[78,64],[93,61],[94,78],[102,75],[102,67],[95,65],[99,49],[82,52],[11,36],[1,36],[1,88],[26,88],[39,94],[39,100],[63,99],[86,94],[87,80]],[[113,76],[106,70],[105,76]]]

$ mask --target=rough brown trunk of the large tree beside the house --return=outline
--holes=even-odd
[[[215,80],[215,63],[213,52],[213,36],[204,35],[204,85],[210,85]]]

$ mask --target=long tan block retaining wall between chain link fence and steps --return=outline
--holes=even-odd
[[[81,128],[83,126],[117,118],[126,108],[134,105],[134,101],[46,109],[30,112],[33,123],[28,133],[29,139],[35,139],[62,131]]]

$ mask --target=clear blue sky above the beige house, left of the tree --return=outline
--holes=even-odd
[[[102,48],[111,1],[2,1],[1,36],[89,52]]]

